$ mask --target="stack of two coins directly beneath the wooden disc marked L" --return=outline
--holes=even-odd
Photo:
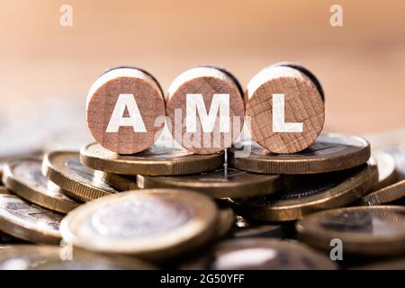
[[[356,202],[377,181],[365,139],[323,134],[309,148],[295,154],[274,154],[244,141],[229,149],[230,166],[260,175],[279,175],[276,193],[229,202],[249,220],[291,221],[314,211]]]

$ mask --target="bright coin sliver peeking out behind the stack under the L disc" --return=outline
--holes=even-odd
[[[374,184],[372,190],[376,191],[390,184],[394,184],[397,181],[395,159],[383,150],[375,150],[372,152],[372,157],[374,157],[377,162],[378,169],[378,182]]]

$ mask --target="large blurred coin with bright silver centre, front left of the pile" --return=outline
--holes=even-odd
[[[201,193],[150,189],[87,202],[67,215],[60,232],[74,247],[161,260],[213,238],[217,220],[215,203]]]

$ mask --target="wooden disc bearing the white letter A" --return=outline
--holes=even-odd
[[[118,107],[124,108],[121,111]],[[166,114],[157,80],[135,67],[114,68],[100,76],[87,94],[86,109],[87,126],[94,139],[119,154],[133,154],[150,147],[164,126],[164,121],[158,125],[155,121]],[[119,119],[127,121],[117,123]],[[134,121],[128,123],[129,119]]]

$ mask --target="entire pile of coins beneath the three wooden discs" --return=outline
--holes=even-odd
[[[197,155],[158,140],[134,155],[93,143],[4,159],[0,268],[404,268],[395,159],[331,133],[294,154],[248,139]]]

